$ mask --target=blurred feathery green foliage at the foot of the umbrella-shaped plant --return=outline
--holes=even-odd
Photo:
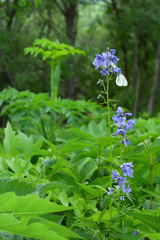
[[[80,126],[91,119],[100,119],[104,110],[90,101],[48,99],[47,94],[18,92],[13,88],[0,93],[1,116],[8,116],[15,127],[27,134],[53,139],[55,131],[66,125]]]

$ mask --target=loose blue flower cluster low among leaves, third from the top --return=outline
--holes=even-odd
[[[127,195],[129,195],[129,193],[132,191],[130,188],[130,184],[128,184],[128,186],[126,186],[127,184],[127,176],[128,177],[132,177],[133,178],[133,169],[132,169],[133,165],[132,162],[129,163],[123,163],[121,165],[121,169],[123,172],[124,177],[122,177],[118,172],[116,172],[115,170],[112,171],[112,180],[115,180],[115,183],[118,183],[117,187],[120,188],[122,190],[123,193],[126,193]],[[114,191],[114,188],[108,188],[108,195],[112,194]],[[124,196],[120,197],[120,200],[124,200]]]

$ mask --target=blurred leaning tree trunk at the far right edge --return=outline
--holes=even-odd
[[[155,100],[156,90],[157,90],[157,86],[158,86],[159,69],[160,69],[160,38],[158,40],[158,46],[157,46],[157,57],[156,57],[156,62],[155,62],[154,80],[153,80],[153,85],[152,85],[149,103],[148,103],[148,112],[149,113],[153,112],[154,100]]]

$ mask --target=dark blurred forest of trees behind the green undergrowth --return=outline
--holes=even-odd
[[[49,91],[50,73],[39,57],[24,56],[37,38],[59,40],[86,56],[64,59],[59,96],[96,100],[95,54],[117,49],[129,87],[111,97],[137,115],[159,111],[159,0],[0,0],[0,89]]]

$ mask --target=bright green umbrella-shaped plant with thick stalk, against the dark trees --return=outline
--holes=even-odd
[[[58,86],[60,81],[60,63],[69,56],[75,54],[83,54],[84,51],[75,49],[74,47],[60,43],[59,41],[51,42],[49,39],[36,39],[32,47],[24,49],[25,54],[30,53],[37,57],[42,56],[42,60],[47,60],[51,68],[50,75],[50,91],[51,98],[56,98],[58,94]]]

